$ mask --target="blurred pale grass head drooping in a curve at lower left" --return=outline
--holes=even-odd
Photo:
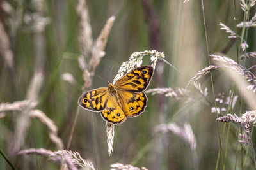
[[[56,144],[59,150],[63,149],[63,141],[58,137],[58,128],[54,124],[54,122],[45,115],[45,113],[41,110],[32,110],[29,113],[29,117],[37,118],[42,124],[45,124],[49,131],[49,137],[53,143]]]

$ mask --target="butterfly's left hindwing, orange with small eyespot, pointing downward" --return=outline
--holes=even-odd
[[[101,116],[111,124],[122,124],[126,120],[126,116],[120,107],[115,96],[109,94],[106,108],[101,111]]]

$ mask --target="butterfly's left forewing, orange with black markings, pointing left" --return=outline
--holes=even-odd
[[[78,99],[78,104],[91,111],[102,111],[106,108],[108,103],[109,90],[107,87],[100,87],[98,89],[93,89],[85,92]]]

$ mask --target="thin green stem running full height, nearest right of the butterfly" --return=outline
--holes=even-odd
[[[203,18],[204,18],[204,32],[205,32],[205,43],[206,43],[206,47],[207,47],[208,62],[209,62],[209,65],[211,65],[211,60],[210,60],[210,55],[209,55],[209,45],[208,45],[207,29],[206,29],[206,23],[205,23],[204,0],[201,0],[201,2],[202,2],[202,12],[203,12]],[[211,76],[212,94],[213,94],[213,97],[214,97],[214,105],[215,105],[215,110],[216,110],[216,118],[218,118],[217,105],[216,105],[216,101],[215,101],[216,97],[215,97],[215,92],[214,92],[212,73],[210,73],[210,76]],[[219,123],[218,122],[217,122],[217,126],[218,126],[218,136],[219,136],[220,148],[219,148],[219,153],[218,153],[218,158],[217,158],[215,169],[218,169],[218,161],[219,161],[220,157],[221,157],[221,165],[223,167],[221,136],[220,136],[220,127],[219,127]]]

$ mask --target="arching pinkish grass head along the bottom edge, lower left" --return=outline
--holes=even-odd
[[[68,169],[77,169],[78,168],[85,168],[94,170],[94,166],[92,162],[86,161],[81,157],[78,152],[72,152],[71,150],[58,150],[56,152],[52,152],[51,150],[46,150],[44,148],[29,148],[26,150],[20,150],[18,152],[19,155],[41,155],[44,157],[48,157],[49,160],[56,164],[63,164],[65,162],[68,166]]]

